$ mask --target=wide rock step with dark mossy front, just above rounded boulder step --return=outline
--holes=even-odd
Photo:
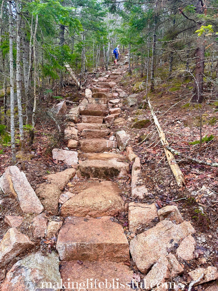
[[[76,174],[87,178],[112,178],[126,176],[129,171],[129,164],[116,160],[86,160],[80,162]]]

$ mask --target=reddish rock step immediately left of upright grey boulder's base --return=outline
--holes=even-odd
[[[117,148],[116,141],[107,139],[82,139],[79,143],[83,152],[105,152],[112,148]]]

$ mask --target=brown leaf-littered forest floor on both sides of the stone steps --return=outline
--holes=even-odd
[[[137,77],[134,73],[129,75],[127,67],[123,67],[123,71],[126,72],[116,80],[116,83],[119,84],[119,88],[122,88],[128,94],[133,94],[134,84],[142,82],[144,79]],[[101,72],[103,72],[103,68],[99,69],[99,73]],[[91,87],[91,84],[93,84],[92,78],[94,78],[94,74],[89,75],[86,86],[90,84]],[[175,81],[171,80],[169,86],[160,84],[156,86],[153,93],[149,93],[152,106],[169,144],[184,155],[197,157],[208,162],[218,162],[218,110],[216,108],[218,104],[216,102],[207,102],[206,100],[203,106],[199,108],[197,105],[189,103],[191,89],[186,88],[187,83],[185,85],[182,82],[180,82],[180,85],[178,83],[179,81],[176,80],[175,85]],[[192,84],[189,83],[189,86],[192,86]],[[175,90],[175,88],[178,90]],[[68,86],[59,95],[66,101],[79,103],[79,100],[83,98],[81,93],[77,93],[75,87]],[[172,205],[172,201],[176,200],[174,204],[178,206],[182,216],[191,221],[196,230],[194,237],[197,242],[197,250],[196,258],[192,260],[192,267],[218,265],[218,169],[192,164],[185,159],[176,157],[186,183],[185,187],[178,187],[164,156],[164,149],[155,130],[150,109],[146,105],[145,90],[136,94],[137,104],[132,107],[124,104],[121,108],[121,117],[126,120],[126,124],[113,125],[111,130],[113,132],[125,130],[131,137],[129,145],[133,147],[134,152],[140,157],[143,173],[142,182],[144,182],[149,192],[146,199],[140,200],[140,202],[153,203],[158,201],[162,206],[165,206]],[[186,99],[183,100],[184,98]],[[178,103],[179,101],[181,102]],[[72,107],[72,103],[67,103],[67,105],[69,105],[69,108]],[[200,139],[200,114],[202,115],[202,137],[214,136],[211,141],[203,142],[201,148],[198,143],[190,144],[190,142]],[[139,121],[141,120],[146,120],[146,122],[140,123]],[[17,155],[17,166],[23,168],[33,189],[35,189],[36,184],[46,179],[46,175],[63,171],[67,168],[63,163],[55,164],[52,160],[51,150],[53,148],[60,147],[64,149],[67,146],[62,136],[58,134],[56,125],[42,112],[37,112],[36,124],[33,145],[29,147],[28,132],[26,132],[27,151],[25,154],[18,153]],[[140,127],[141,124],[143,124],[142,128],[134,127]],[[150,135],[146,138],[148,134]],[[18,148],[19,145],[17,145],[17,150]],[[4,148],[4,152],[0,156],[0,164],[1,175],[4,169],[11,165],[9,147]],[[119,180],[117,182],[120,185],[122,184],[126,187],[123,198],[129,199],[131,178],[127,177],[125,180],[117,178],[117,180]],[[77,187],[84,186],[84,181],[85,178],[80,179],[75,185],[68,183],[65,190],[74,189],[76,191]],[[11,198],[10,204],[9,199],[8,207],[2,213],[2,217],[4,214],[10,214],[11,209],[13,209],[13,213],[15,212],[16,205],[14,203]],[[19,207],[17,207],[17,211],[19,212]],[[118,219],[122,221],[124,227],[128,228],[125,215],[121,215]],[[3,226],[2,219],[0,223]],[[153,225],[155,224],[156,222],[153,223]],[[26,230],[24,229],[23,231],[28,233],[28,225],[26,225]],[[140,233],[142,231],[142,228],[138,230]],[[0,237],[4,233],[5,229],[2,227]],[[11,262],[10,266],[12,264],[13,262]],[[184,265],[187,271],[191,267],[188,262],[184,262]]]

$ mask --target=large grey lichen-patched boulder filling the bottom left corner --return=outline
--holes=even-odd
[[[51,285],[49,282],[51,282]],[[57,283],[59,286],[57,286]],[[60,290],[60,286],[61,278],[58,254],[54,251],[46,255],[37,252],[28,255],[13,265],[1,285],[1,290],[55,291]]]

